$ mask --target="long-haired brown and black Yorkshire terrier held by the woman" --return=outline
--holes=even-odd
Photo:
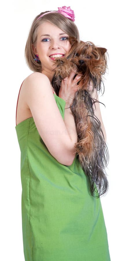
[[[61,81],[71,71],[76,70],[76,75],[80,75],[78,91],[71,106],[78,135],[75,147],[82,169],[89,177],[89,191],[91,195],[100,197],[108,190],[105,168],[109,162],[109,152],[100,121],[94,115],[93,104],[95,106],[99,101],[91,97],[88,89],[91,84],[92,92],[94,88],[102,92],[103,75],[107,69],[107,49],[97,47],[92,42],[78,43],[74,37],[69,37],[69,41],[69,53],[54,61],[56,68],[52,86],[59,96]]]

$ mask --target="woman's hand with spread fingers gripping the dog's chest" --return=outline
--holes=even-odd
[[[60,90],[59,90],[59,97],[64,99],[66,104],[69,106],[72,105],[74,100],[74,94],[78,91],[78,81],[80,79],[80,75],[77,75],[75,78],[75,74],[77,72],[73,71],[69,75],[69,77],[66,77],[62,80]]]

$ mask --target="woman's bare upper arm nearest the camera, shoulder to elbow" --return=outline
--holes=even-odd
[[[63,121],[47,76],[33,73],[25,79],[24,87],[26,103],[49,152],[61,164],[71,165],[75,157],[75,140],[73,135],[69,135],[67,122],[69,117],[69,124],[75,124],[73,116],[68,111],[65,113],[65,122]]]

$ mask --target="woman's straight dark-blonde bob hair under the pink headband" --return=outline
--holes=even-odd
[[[49,12],[49,11],[46,11],[46,12]],[[44,14],[46,12],[42,12],[41,14],[39,14],[35,17],[34,21],[32,22],[32,26],[30,28],[30,32],[29,32],[28,39],[27,39],[26,46],[25,46],[26,63],[28,65],[28,67],[30,68],[30,70],[32,70],[34,72],[41,72],[41,62],[37,63],[36,61],[34,61],[35,54],[34,54],[32,45],[33,46],[36,45],[37,30],[38,30],[40,24],[43,23],[43,21],[52,23],[53,25],[57,26],[58,28],[60,28],[64,32],[66,32],[69,36],[74,36],[78,41],[80,40],[78,28],[75,25],[75,23],[73,21],[71,21],[70,19],[68,19],[67,17],[65,17],[64,15],[59,14],[58,12],[45,14],[43,17],[41,17],[40,19],[37,20],[37,18],[39,16],[41,16],[42,14]]]

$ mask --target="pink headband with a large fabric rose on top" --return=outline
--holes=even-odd
[[[37,18],[37,20],[41,17],[43,17],[45,14],[49,14],[49,13],[59,13],[59,14],[63,14],[65,17],[69,18],[71,21],[75,21],[75,14],[74,11],[71,10],[70,6],[66,7],[66,6],[62,6],[62,7],[58,7],[58,11],[50,11],[47,13],[42,14],[41,16],[39,16]]]

